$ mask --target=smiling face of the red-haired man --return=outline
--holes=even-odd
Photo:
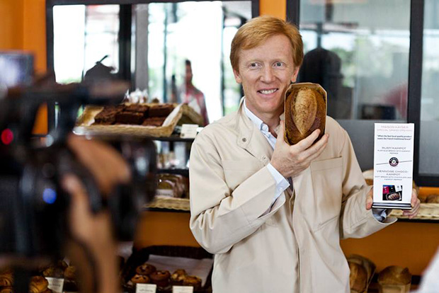
[[[291,49],[285,35],[274,35],[257,47],[239,52],[235,80],[244,88],[247,108],[261,119],[283,113],[284,93],[299,71]]]

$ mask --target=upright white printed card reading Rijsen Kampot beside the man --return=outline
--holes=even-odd
[[[375,123],[372,207],[411,209],[413,123]]]

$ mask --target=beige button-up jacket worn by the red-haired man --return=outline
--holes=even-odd
[[[369,188],[345,130],[327,117],[324,152],[292,178],[268,214],[275,180],[270,144],[241,106],[198,134],[190,154],[190,229],[215,253],[215,293],[349,292],[341,238],[396,221],[365,209]]]

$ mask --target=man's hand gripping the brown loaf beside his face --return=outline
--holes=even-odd
[[[289,146],[284,140],[285,122],[280,122],[278,139],[275,144],[271,165],[279,171],[285,178],[295,176],[309,167],[312,160],[316,159],[326,144],[328,144],[329,134],[324,134],[321,139],[312,144],[319,137],[320,130],[314,130],[309,137],[302,139],[299,143]]]

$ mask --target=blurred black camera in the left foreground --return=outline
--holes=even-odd
[[[86,136],[113,146],[130,166],[130,183],[118,185],[108,196],[101,195],[90,171],[67,147],[81,105],[119,103],[126,88],[118,81],[10,88],[0,99],[0,267],[32,266],[32,260],[63,256],[69,195],[60,180],[67,173],[82,180],[93,212],[110,211],[117,238],[132,240],[137,215],[155,194],[154,142],[127,135]],[[57,127],[35,137],[35,116],[45,103],[56,105]]]

